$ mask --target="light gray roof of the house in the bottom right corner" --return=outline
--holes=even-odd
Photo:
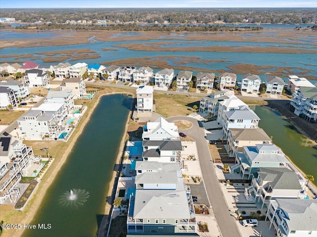
[[[289,230],[317,231],[317,199],[277,198]]]

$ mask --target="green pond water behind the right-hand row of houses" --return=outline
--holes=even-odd
[[[317,150],[312,143],[278,113],[261,106],[251,108],[261,118],[259,126],[268,136],[273,136],[273,143],[305,174],[317,177]],[[313,183],[317,185],[317,179]]]

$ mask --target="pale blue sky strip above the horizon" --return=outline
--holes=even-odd
[[[103,7],[317,7],[317,0],[0,0],[0,9]]]

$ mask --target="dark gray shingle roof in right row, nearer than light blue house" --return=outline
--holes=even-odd
[[[302,190],[297,174],[287,168],[260,168],[258,172],[263,181],[270,183],[272,189]]]

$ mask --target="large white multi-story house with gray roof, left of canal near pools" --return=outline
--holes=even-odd
[[[59,136],[60,120],[55,113],[47,113],[42,110],[29,110],[17,119],[22,137],[31,140],[44,138],[56,138]]]

